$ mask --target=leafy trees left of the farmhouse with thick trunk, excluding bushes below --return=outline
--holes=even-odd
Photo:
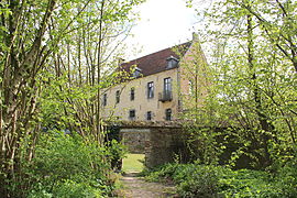
[[[102,81],[112,79],[103,75],[103,65],[113,56],[107,46],[113,41],[117,48],[120,41],[114,37],[140,2],[0,2],[1,195],[21,196],[15,189],[25,186],[12,189],[10,184],[24,177],[22,164],[34,157],[46,123],[58,122],[59,129],[102,142],[100,90]]]

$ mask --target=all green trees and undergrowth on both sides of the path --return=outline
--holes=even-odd
[[[105,143],[100,97],[124,76],[119,46],[141,2],[0,2],[1,196],[110,196],[122,150]],[[182,119],[199,165],[153,175],[174,179],[184,197],[294,197],[297,2],[218,2],[199,33],[209,64],[194,54],[187,67],[193,103]],[[263,172],[218,166],[240,162]]]

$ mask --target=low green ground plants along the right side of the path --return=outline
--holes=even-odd
[[[288,172],[288,169],[290,169]],[[275,174],[263,170],[232,170],[224,166],[166,164],[144,172],[151,182],[174,182],[182,197],[270,197],[294,198],[297,172],[287,165]]]

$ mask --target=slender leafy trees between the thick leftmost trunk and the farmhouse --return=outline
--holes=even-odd
[[[135,20],[128,15],[140,2],[94,2],[86,8],[86,12],[81,12],[75,22],[80,28],[74,28],[61,42],[53,57],[54,64],[50,67],[50,76],[45,77],[48,91],[44,100],[56,107],[51,110],[47,105],[43,106],[50,110],[43,116],[46,125],[55,121],[54,125],[58,128],[68,128],[102,143],[102,89],[120,80],[121,41]],[[73,8],[74,12],[80,9]],[[62,111],[56,112],[55,109]],[[48,119],[51,116],[55,118]]]

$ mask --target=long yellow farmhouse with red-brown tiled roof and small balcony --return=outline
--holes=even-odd
[[[132,78],[102,91],[102,118],[176,121],[207,92],[202,73],[206,58],[196,34],[190,42],[122,63],[120,67],[133,67]]]

